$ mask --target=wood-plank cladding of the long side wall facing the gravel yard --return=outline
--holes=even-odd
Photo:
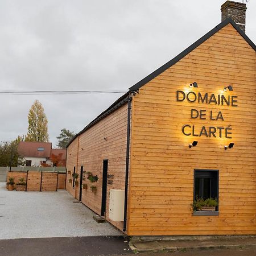
[[[111,179],[112,184],[110,182],[107,185],[106,220],[119,229],[123,228],[123,222],[109,220],[109,191],[110,189],[125,189],[126,136],[127,104],[79,135],[79,138],[77,137],[69,145],[67,153],[67,168],[68,171],[71,171],[71,174],[67,174],[67,191],[73,196],[76,194],[76,198],[79,198],[79,187],[73,189],[68,180],[72,179],[74,166],[79,175],[80,168],[83,166],[84,180],[82,183],[87,184],[87,189],[82,189],[82,203],[97,214],[101,214],[103,160],[108,159],[108,174],[112,175],[113,179]],[[98,181],[91,183],[87,179],[87,171],[92,172],[93,175],[98,175]],[[80,181],[80,177],[77,180]],[[91,185],[97,187],[96,193],[91,192]]]

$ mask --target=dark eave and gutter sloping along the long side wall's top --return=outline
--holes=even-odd
[[[89,123],[89,125],[85,126],[84,129],[82,129],[79,133],[77,133],[72,139],[71,141],[67,144],[66,148],[69,147],[69,145],[75,141],[75,139],[77,137],[79,137],[80,134],[84,133],[86,130],[88,130],[90,127],[92,127],[93,125],[95,125],[97,122],[99,122],[101,119],[103,119],[104,117],[106,117],[107,115],[111,114],[114,112],[114,110],[120,108],[122,105],[124,105],[130,97],[130,92],[127,92],[125,94],[123,94],[120,98],[118,98],[117,101],[115,101],[112,105],[109,106],[108,109],[104,110],[104,112],[102,112],[100,115],[98,115],[95,119],[93,119],[92,122]]]

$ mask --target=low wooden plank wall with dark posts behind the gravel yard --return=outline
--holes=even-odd
[[[43,171],[11,171],[9,177],[14,177],[15,184],[23,177],[27,183],[26,191],[57,191],[65,189],[65,173]]]

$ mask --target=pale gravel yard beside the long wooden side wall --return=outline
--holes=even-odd
[[[7,191],[0,183],[0,240],[40,237],[122,236],[108,222],[98,224],[95,213],[65,190]]]

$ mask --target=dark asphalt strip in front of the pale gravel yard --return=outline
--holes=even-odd
[[[122,236],[0,240],[1,256],[86,256],[133,253]]]

